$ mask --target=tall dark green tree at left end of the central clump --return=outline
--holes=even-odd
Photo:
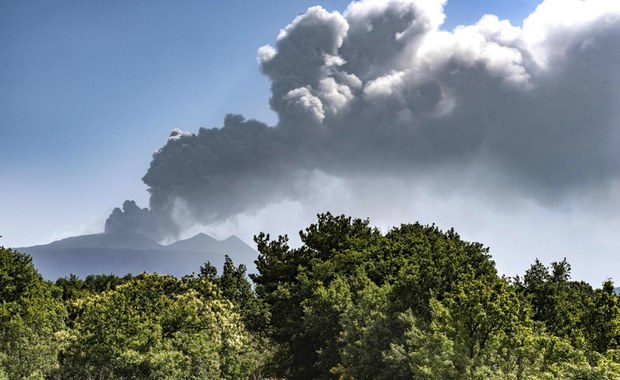
[[[299,249],[290,249],[285,236],[273,241],[269,235],[255,236],[259,274],[252,279],[259,297],[269,307],[270,337],[281,347],[276,365],[280,376],[308,379],[328,375],[331,364],[316,366],[318,352],[336,336],[317,337],[309,332],[303,323],[304,301],[313,298],[317,286],[328,286],[341,272],[361,264],[363,257],[354,264],[347,256],[380,237],[368,224],[367,220],[344,215],[320,214],[316,224],[300,232],[304,245]],[[330,331],[337,334],[338,330]]]

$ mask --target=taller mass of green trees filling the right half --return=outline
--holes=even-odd
[[[256,291],[290,379],[617,378],[618,297],[539,261],[497,275],[488,249],[418,223],[386,234],[318,216],[291,249],[255,237]]]

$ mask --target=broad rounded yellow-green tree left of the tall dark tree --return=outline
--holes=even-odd
[[[233,305],[206,279],[142,274],[74,301],[62,379],[238,379],[256,366]]]

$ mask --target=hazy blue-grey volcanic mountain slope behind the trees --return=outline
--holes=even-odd
[[[161,245],[140,234],[101,233],[74,236],[46,245],[16,248],[32,256],[34,265],[46,279],[75,274],[116,274],[156,272],[177,277],[197,273],[209,261],[218,271],[228,255],[235,265],[245,264],[255,272],[257,252],[236,236],[216,240],[198,234],[187,240]]]

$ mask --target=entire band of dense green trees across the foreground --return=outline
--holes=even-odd
[[[0,379],[617,379],[613,284],[564,260],[523,277],[435,226],[319,215],[259,234],[258,274],[44,281],[0,249]]]

